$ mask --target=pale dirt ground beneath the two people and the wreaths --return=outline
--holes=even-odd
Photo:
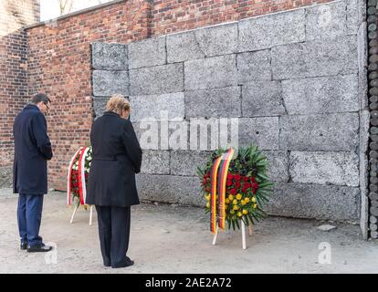
[[[357,225],[269,217],[254,226],[243,250],[240,231],[220,233],[212,245],[204,209],[153,203],[132,207],[128,255],[135,265],[106,268],[96,212],[92,226],[84,209],[69,224],[72,209],[59,192],[45,197],[40,233],[55,252],[28,254],[18,246],[16,202],[11,190],[0,190],[0,273],[378,272],[378,242],[363,241]],[[337,228],[320,231],[320,224]]]

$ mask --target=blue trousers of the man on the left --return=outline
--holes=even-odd
[[[39,227],[42,219],[43,197],[43,194],[19,194],[17,219],[21,244],[27,243],[30,246],[42,244]]]

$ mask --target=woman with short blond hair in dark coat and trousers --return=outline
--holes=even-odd
[[[92,162],[86,203],[94,204],[99,220],[104,266],[131,266],[131,205],[138,204],[135,173],[141,171],[142,149],[131,121],[129,101],[113,96],[90,130]]]

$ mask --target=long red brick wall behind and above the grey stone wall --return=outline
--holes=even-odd
[[[29,94],[43,91],[52,99],[47,123],[55,157],[49,163],[49,186],[65,189],[69,157],[89,141],[91,42],[129,43],[325,2],[330,0],[130,0],[28,28]]]

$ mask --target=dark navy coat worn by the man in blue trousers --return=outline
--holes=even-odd
[[[15,159],[13,192],[47,193],[47,161],[53,156],[47,136],[47,122],[34,104],[27,105],[13,125]]]

